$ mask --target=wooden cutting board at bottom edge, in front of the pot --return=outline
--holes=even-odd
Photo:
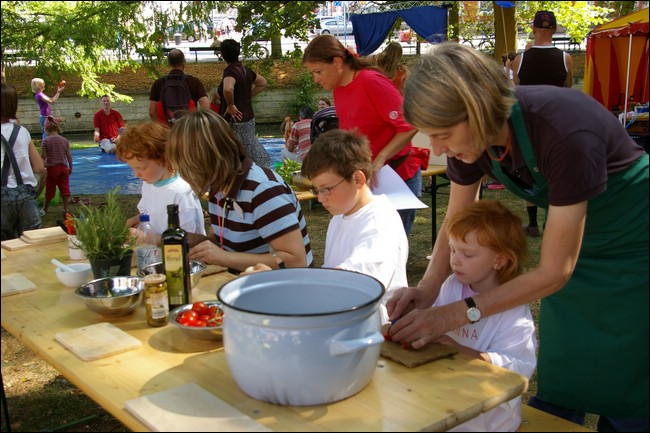
[[[271,431],[195,383],[128,400],[126,409],[152,431]],[[217,424],[218,423],[218,424]]]

